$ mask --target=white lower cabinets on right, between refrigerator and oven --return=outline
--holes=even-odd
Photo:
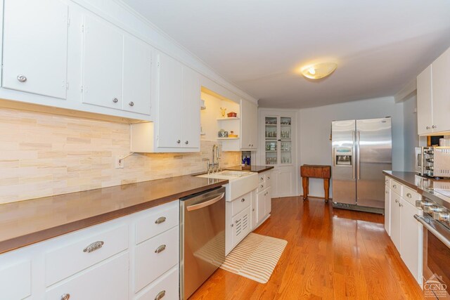
[[[423,226],[414,219],[414,215],[423,215],[416,207],[420,195],[411,188],[387,178],[385,191],[390,197],[390,211],[385,212],[385,224],[390,224],[390,237],[401,259],[411,274],[422,284]],[[389,231],[386,229],[389,233]]]

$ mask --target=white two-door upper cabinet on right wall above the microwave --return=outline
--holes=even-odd
[[[450,48],[417,77],[418,134],[450,131]]]

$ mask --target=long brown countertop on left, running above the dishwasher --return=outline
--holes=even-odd
[[[228,182],[179,176],[0,204],[0,254]]]

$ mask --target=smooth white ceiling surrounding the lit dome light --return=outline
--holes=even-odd
[[[447,0],[123,0],[262,107],[392,96],[450,46]],[[311,81],[301,65],[335,61]]]

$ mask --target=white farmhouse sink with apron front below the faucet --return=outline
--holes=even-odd
[[[258,187],[257,173],[249,171],[221,171],[214,174],[202,174],[195,177],[228,179],[229,184],[225,185],[225,200],[233,201],[237,197],[250,193]]]

